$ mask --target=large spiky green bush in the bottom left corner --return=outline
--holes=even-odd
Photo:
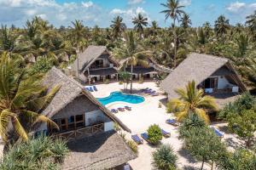
[[[59,169],[67,156],[67,145],[61,139],[39,136],[26,143],[15,144],[3,157],[0,168],[16,169]]]

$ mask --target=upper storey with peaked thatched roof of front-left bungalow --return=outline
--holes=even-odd
[[[119,118],[108,111],[90,92],[84,90],[79,82],[67,77],[57,68],[53,67],[47,73],[44,77],[44,84],[49,87],[49,90],[61,86],[55,97],[44,109],[43,114],[55,120],[63,132],[69,129],[68,124],[72,124],[74,122],[73,118],[76,116],[81,121],[81,123],[75,123],[77,126],[87,127],[97,121],[117,122],[125,131],[131,132]],[[70,128],[73,129],[73,125]]]

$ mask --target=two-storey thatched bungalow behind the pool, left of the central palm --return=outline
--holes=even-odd
[[[79,54],[73,65],[70,66],[73,76],[81,82],[95,83],[118,80],[119,63],[111,57],[104,46],[89,46]]]

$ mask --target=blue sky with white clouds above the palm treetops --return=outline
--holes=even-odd
[[[156,20],[159,26],[170,26],[165,21],[166,0],[0,0],[0,24],[25,26],[26,20],[40,16],[56,27],[71,26],[71,21],[82,20],[84,26],[108,27],[117,15],[124,18],[126,26],[132,27],[131,19],[141,13],[148,22]],[[256,0],[180,0],[183,10],[189,14],[192,26],[202,26],[224,14],[230,24],[245,23],[246,16],[256,10]],[[150,26],[150,24],[149,24]]]

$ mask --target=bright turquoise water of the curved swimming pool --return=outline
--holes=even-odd
[[[99,102],[102,103],[102,105],[108,105],[116,101],[126,102],[130,104],[139,104],[145,101],[145,99],[141,96],[122,94],[121,92],[113,92],[107,98],[97,99],[99,100]]]

